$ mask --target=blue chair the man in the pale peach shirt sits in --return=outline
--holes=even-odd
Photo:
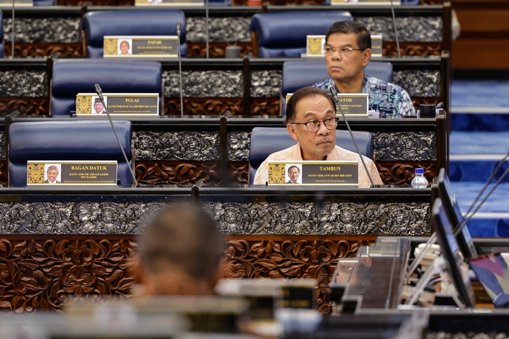
[[[373,134],[371,132],[352,131],[360,153],[373,158]],[[249,184],[252,185],[258,167],[272,153],[295,145],[284,127],[255,127],[251,132],[249,146]],[[357,152],[348,131],[336,130],[336,145]]]

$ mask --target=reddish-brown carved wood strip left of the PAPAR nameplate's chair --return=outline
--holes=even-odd
[[[5,55],[11,55],[11,44],[5,44]],[[60,56],[83,56],[83,46],[81,43],[62,44],[62,43],[19,43],[14,44],[14,56],[49,56],[56,52]]]

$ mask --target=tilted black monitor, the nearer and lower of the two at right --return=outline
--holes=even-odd
[[[440,198],[435,199],[431,218],[437,230],[438,243],[445,259],[449,279],[453,282],[465,307],[471,308],[475,305],[475,298],[467,273],[468,267]]]

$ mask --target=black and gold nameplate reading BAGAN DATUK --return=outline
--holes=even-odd
[[[29,161],[26,184],[117,185],[116,161]]]

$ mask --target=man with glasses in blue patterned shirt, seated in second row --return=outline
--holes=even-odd
[[[330,78],[313,86],[338,93],[369,94],[370,110],[380,112],[381,118],[415,115],[407,91],[391,82],[364,74],[371,59],[371,35],[363,23],[338,21],[325,36],[325,60]]]

